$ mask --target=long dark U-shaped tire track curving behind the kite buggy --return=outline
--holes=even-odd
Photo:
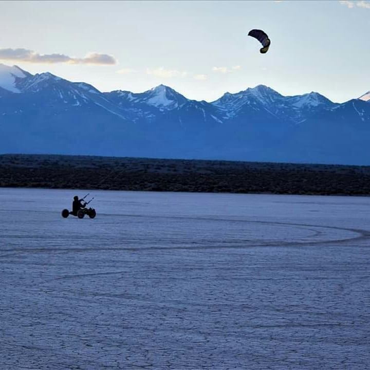
[[[117,215],[115,215],[117,216]],[[141,215],[120,215],[123,217],[152,217],[152,216],[141,216]],[[325,230],[338,230],[346,231],[356,234],[352,237],[347,238],[336,238],[327,240],[311,240],[311,241],[279,241],[279,240],[269,240],[261,241],[258,239],[237,239],[237,240],[226,240],[217,241],[215,244],[214,239],[202,239],[200,241],[191,241],[189,245],[181,246],[152,246],[152,247],[83,247],[83,248],[7,248],[3,249],[2,252],[23,252],[23,253],[85,253],[85,252],[98,252],[98,251],[155,251],[155,250],[208,250],[208,249],[246,249],[255,247],[298,247],[298,246],[313,246],[313,245],[328,245],[328,244],[343,244],[348,242],[360,242],[370,238],[370,231],[356,228],[342,228],[338,226],[322,226],[322,225],[312,225],[312,224],[300,224],[300,223],[284,223],[284,222],[271,222],[271,221],[255,221],[246,219],[225,219],[225,218],[215,218],[215,217],[172,217],[172,216],[161,216],[158,219],[181,219],[181,220],[192,220],[192,221],[215,221],[215,222],[228,222],[228,223],[245,223],[245,224],[260,224],[269,226],[283,226],[283,227],[296,227],[302,228],[304,230],[312,231],[314,234],[312,236],[318,236],[325,233]],[[318,230],[319,229],[319,230]],[[177,239],[174,240],[176,242]],[[122,240],[122,242],[125,242]],[[132,240],[128,241],[132,242]],[[145,244],[150,243],[150,240],[145,240]],[[158,242],[157,239],[153,242]],[[210,245],[204,245],[205,243],[210,243]],[[245,245],[243,243],[249,243]],[[251,244],[253,243],[253,244]],[[201,244],[199,246],[199,244]],[[0,256],[0,257],[4,257]]]

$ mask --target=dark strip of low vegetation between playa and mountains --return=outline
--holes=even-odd
[[[370,166],[7,154],[0,187],[369,195]]]

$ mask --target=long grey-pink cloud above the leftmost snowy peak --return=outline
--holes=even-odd
[[[39,54],[28,49],[0,49],[0,60],[20,61],[28,63],[67,63],[67,64],[95,64],[95,65],[113,65],[117,61],[112,55],[99,54],[96,52],[87,54],[84,58],[72,58],[65,54]]]

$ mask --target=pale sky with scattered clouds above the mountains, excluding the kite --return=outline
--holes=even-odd
[[[266,54],[247,36],[263,29]],[[0,1],[0,63],[100,91],[189,99],[267,85],[334,102],[370,90],[370,1]]]

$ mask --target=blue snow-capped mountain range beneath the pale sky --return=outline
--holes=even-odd
[[[370,91],[339,104],[258,85],[206,102],[0,64],[0,153],[370,165],[369,142]]]

